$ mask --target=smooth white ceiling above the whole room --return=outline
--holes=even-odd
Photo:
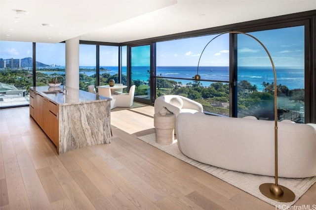
[[[120,43],[315,9],[316,0],[0,0],[0,40]]]

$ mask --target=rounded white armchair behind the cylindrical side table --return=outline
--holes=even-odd
[[[166,107],[176,116],[183,112],[203,112],[203,106],[200,103],[181,95],[163,95],[156,98],[155,114],[158,113],[162,107]]]

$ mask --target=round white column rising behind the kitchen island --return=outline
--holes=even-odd
[[[79,37],[66,40],[66,86],[79,89]]]

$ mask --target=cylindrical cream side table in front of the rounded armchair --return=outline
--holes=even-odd
[[[154,126],[156,128],[156,142],[161,145],[174,143],[174,127],[176,115],[166,114],[154,115]]]

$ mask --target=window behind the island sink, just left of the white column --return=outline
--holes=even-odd
[[[36,86],[65,78],[65,43],[36,43],[36,61]],[[61,77],[57,81],[64,82]]]

